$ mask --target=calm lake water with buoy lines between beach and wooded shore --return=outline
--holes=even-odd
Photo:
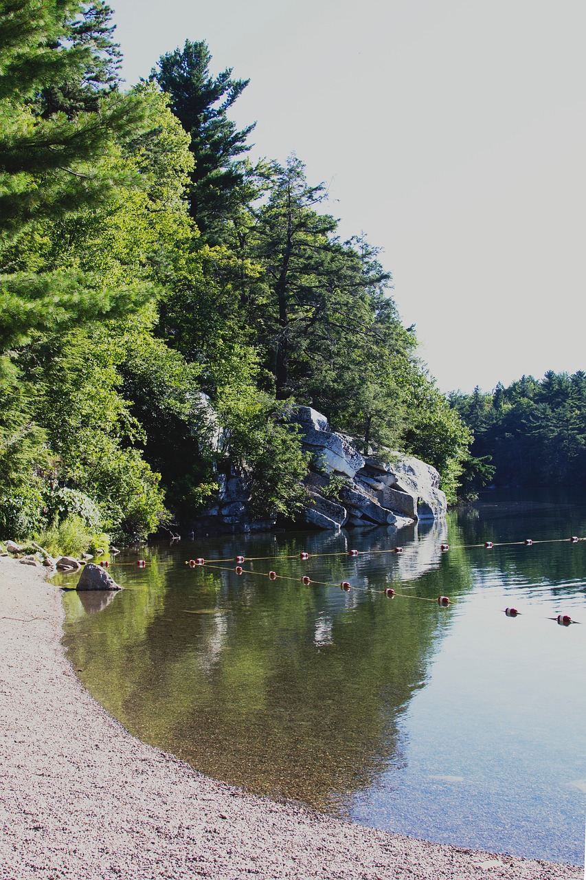
[[[111,572],[128,589],[64,594],[70,658],[128,730],[206,774],[394,832],[581,864],[586,541],[567,539],[586,536],[586,506],[500,497],[398,535],[183,540],[141,551],[143,570],[121,554]],[[462,546],[525,538],[551,543]],[[238,576],[237,554],[273,558]],[[200,555],[231,561],[184,564]],[[325,585],[346,579],[348,592]]]

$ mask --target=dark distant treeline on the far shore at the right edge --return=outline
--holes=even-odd
[[[480,487],[586,486],[586,373],[524,376],[494,392],[450,395],[474,434],[472,455]],[[494,468],[491,474],[490,467]],[[474,477],[476,479],[474,480]]]

